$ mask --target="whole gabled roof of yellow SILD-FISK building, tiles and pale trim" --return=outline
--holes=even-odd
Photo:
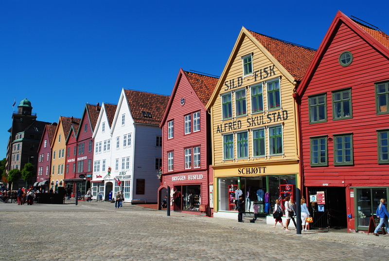
[[[261,35],[242,27],[219,82],[206,105],[207,109],[212,106],[217,94],[223,87],[244,37],[248,37],[291,83],[302,80],[316,53],[316,50],[312,48],[303,47],[267,35]]]

